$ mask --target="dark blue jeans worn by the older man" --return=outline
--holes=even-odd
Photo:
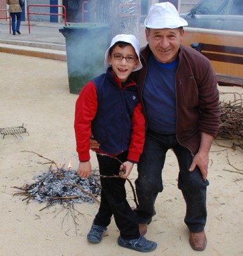
[[[208,180],[203,181],[198,166],[193,172],[189,172],[192,163],[191,151],[178,143],[175,134],[157,134],[150,130],[146,131],[145,147],[137,164],[138,177],[135,184],[139,223],[148,223],[156,214],[154,204],[158,193],[163,190],[162,169],[166,152],[170,148],[175,153],[179,165],[178,188],[182,191],[186,203],[185,224],[191,232],[201,232],[207,220]]]

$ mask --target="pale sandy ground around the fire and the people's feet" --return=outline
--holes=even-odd
[[[74,107],[77,95],[69,93],[67,63],[0,52],[0,128],[24,126],[29,132],[22,140],[0,137],[0,255],[8,256],[75,256],[75,255],[138,255],[121,248],[114,220],[100,244],[90,244],[86,234],[98,210],[98,204],[76,204],[77,225],[60,205],[40,211],[45,204],[13,196],[13,186],[33,183],[33,177],[47,172],[49,164],[29,150],[77,169],[74,137]],[[243,94],[242,88],[219,88],[231,92],[221,97]],[[239,97],[239,94],[237,97]],[[164,191],[156,202],[157,215],[148,227],[146,238],[157,241],[158,247],[148,255],[243,255],[243,150],[231,148],[231,141],[217,141],[210,153],[208,180],[208,245],[204,252],[195,252],[188,243],[189,232],[184,224],[185,203],[176,187],[178,165],[168,152],[163,172]],[[97,161],[93,156],[93,168]],[[136,168],[130,175],[136,179]],[[128,199],[134,206],[130,186]],[[77,228],[77,229],[76,229]]]

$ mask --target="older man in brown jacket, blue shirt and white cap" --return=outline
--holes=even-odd
[[[208,154],[220,117],[216,74],[200,52],[181,44],[187,22],[173,4],[153,4],[145,26],[143,68],[132,74],[146,118],[145,147],[137,164],[139,230],[145,234],[156,213],[155,200],[163,190],[161,173],[171,148],[178,159],[189,243],[194,250],[204,250]]]

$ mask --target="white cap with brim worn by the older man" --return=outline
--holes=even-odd
[[[180,17],[175,6],[169,2],[152,4],[145,19],[146,28],[173,29],[187,25],[187,21]]]

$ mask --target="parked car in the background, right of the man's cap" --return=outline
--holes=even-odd
[[[180,17],[192,28],[243,31],[243,0],[201,0]]]

